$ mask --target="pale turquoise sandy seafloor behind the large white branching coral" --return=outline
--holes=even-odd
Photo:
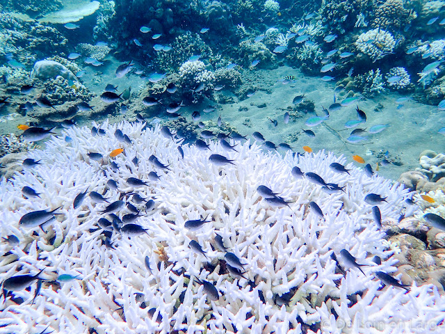
[[[143,79],[140,79],[132,72],[127,74],[127,77],[117,79],[115,77],[115,67],[117,65],[114,62],[109,63],[108,66],[100,67],[100,69],[86,67],[87,73],[82,77],[83,84],[97,95],[103,92],[106,84],[118,85],[119,92],[131,86],[133,94],[138,93],[138,90],[141,91],[147,84],[151,85],[151,83],[143,81]],[[216,121],[218,116],[221,116],[224,122],[229,122],[230,126],[238,129],[238,132],[243,135],[251,135],[255,131],[261,132],[266,141],[272,141],[275,145],[287,142],[297,152],[303,152],[302,146],[308,145],[314,151],[324,149],[335,152],[338,155],[344,154],[348,157],[349,162],[353,162],[352,156],[358,154],[366,160],[366,163],[371,164],[374,169],[377,162],[383,159],[382,154],[388,151],[387,159],[390,161],[395,159],[400,161],[402,165],[389,164],[388,166],[380,166],[378,173],[393,180],[397,180],[401,173],[419,167],[419,154],[423,150],[429,149],[436,152],[444,152],[445,136],[438,133],[439,129],[445,126],[443,111],[438,111],[437,106],[420,104],[414,102],[414,100],[404,102],[403,107],[397,109],[398,104],[396,104],[396,100],[399,97],[410,95],[399,95],[390,90],[372,99],[358,102],[359,108],[367,116],[366,125],[359,125],[358,127],[369,129],[373,125],[389,125],[387,129],[379,134],[368,134],[369,141],[359,144],[345,144],[335,132],[321,124],[311,128],[316,134],[315,138],[310,138],[302,133],[298,136],[297,141],[290,143],[288,135],[300,132],[301,128],[309,129],[309,127],[305,126],[305,122],[307,118],[315,116],[315,114],[302,114],[302,118],[291,119],[288,124],[284,124],[283,116],[286,111],[284,109],[288,106],[293,106],[293,97],[304,93],[309,100],[314,101],[318,116],[323,116],[322,106],[327,108],[334,102],[335,81],[325,82],[321,80],[321,77],[309,77],[302,74],[299,70],[287,66],[278,67],[275,70],[243,70],[242,73],[243,84],[258,88],[257,93],[252,97],[233,104],[218,104],[218,109],[210,113],[202,112],[202,109],[209,106],[209,104],[185,106],[179,113],[186,116],[189,121],[191,121],[191,113],[193,111],[201,112],[202,121]],[[326,74],[329,75],[329,73]],[[296,77],[296,80],[290,84],[277,82],[277,80],[286,76]],[[337,77],[336,79],[342,78]],[[221,90],[217,94],[232,95],[234,100],[237,101],[235,95],[225,90]],[[343,99],[344,96],[341,94],[344,93],[340,93],[340,96],[337,96],[337,102]],[[99,97],[95,97],[90,101],[90,105],[95,106],[97,102],[100,102]],[[266,106],[260,108],[259,105],[264,103]],[[374,109],[378,104],[382,104],[383,108],[380,111],[375,111]],[[332,129],[336,129],[343,138],[348,138],[353,129],[346,129],[344,125],[348,120],[357,119],[356,106],[357,104],[351,104],[350,106],[341,107],[339,111],[331,112],[330,119],[326,120],[325,124]],[[153,107],[148,107],[147,113],[149,113],[150,108]],[[247,111],[245,111],[246,108]],[[244,109],[244,111],[240,111],[240,109]],[[29,122],[29,119],[26,117],[18,116],[17,114],[14,117],[10,117],[5,115],[4,110],[0,112],[1,118],[6,120],[6,122],[0,123],[1,134],[9,134],[11,132],[19,134],[17,125]],[[144,115],[145,109],[141,109],[139,112]],[[125,115],[118,113],[104,116],[103,119],[106,117],[110,118],[111,122],[119,122],[122,119],[135,120],[133,112]],[[277,120],[277,127],[274,127],[268,118]],[[149,118],[147,120],[151,121]],[[90,122],[79,122],[78,125],[91,127]],[[250,138],[252,137],[250,136]],[[284,150],[280,149],[280,152],[284,152]]]

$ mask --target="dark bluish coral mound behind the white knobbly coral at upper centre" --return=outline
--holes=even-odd
[[[191,56],[200,55],[209,58],[213,52],[197,33],[187,31],[177,36],[168,52],[158,52],[155,56],[156,66],[165,72],[175,72]]]

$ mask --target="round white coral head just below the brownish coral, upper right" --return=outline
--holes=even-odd
[[[355,45],[364,54],[371,56],[371,58],[376,58],[379,55],[392,52],[396,46],[396,41],[391,33],[377,28],[359,35]]]

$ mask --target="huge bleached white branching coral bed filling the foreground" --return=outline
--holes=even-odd
[[[182,159],[179,141],[163,137],[159,125],[148,129],[145,123],[122,122],[100,128],[105,136],[92,136],[87,127],[67,129],[70,143],[65,135],[51,138],[44,150],[29,154],[42,164],[10,182],[1,181],[0,232],[17,235],[20,244],[0,244],[0,280],[43,268],[41,277],[48,280],[61,273],[80,275],[60,287],[44,281],[33,305],[35,284],[31,291],[14,292],[25,302],[17,304],[8,297],[3,303],[4,333],[34,333],[47,325],[58,333],[259,334],[291,328],[289,333],[302,333],[303,322],[323,334],[341,333],[345,325],[355,328],[350,333],[398,334],[419,321],[435,326],[444,321],[445,300],[434,286],[412,286],[404,293],[394,287],[380,290],[380,281],[372,279],[375,271],[395,271],[396,260],[372,221],[371,205],[363,199],[367,193],[387,197],[380,205],[382,216],[397,218],[396,208],[407,196],[403,186],[378,175],[367,177],[352,164],[346,166],[350,175],[334,173],[328,166],[334,161],[345,164],[346,159],[331,153],[281,157],[250,142],[228,153],[219,143],[210,143],[211,152],[183,146]],[[116,129],[133,143],[120,143]],[[119,147],[124,154],[109,157]],[[91,161],[88,152],[104,154],[102,163]],[[233,164],[214,166],[209,161],[214,153]],[[155,168],[148,159],[151,154],[170,164],[170,170],[156,168],[160,180],[129,186],[129,177],[148,180]],[[133,157],[138,164],[130,161]],[[118,170],[110,168],[111,160]],[[296,165],[339,183],[345,192],[328,195],[307,179],[293,180],[291,168]],[[118,182],[119,190],[107,190],[109,179]],[[256,191],[260,184],[289,203],[269,205]],[[40,198],[23,198],[23,186],[32,186]],[[87,187],[104,193],[110,202],[135,191],[155,198],[156,209],[136,221],[147,233],[129,238],[114,232],[114,249],[106,248],[103,231],[97,228],[106,204],[95,205],[87,197],[81,207],[72,205]],[[307,211],[309,201],[318,203],[325,220]],[[56,207],[60,215],[43,230],[18,224],[28,212]],[[184,227],[185,221],[206,216],[204,228],[193,232]],[[245,278],[227,273],[224,253],[213,250],[217,233],[225,247],[242,258]],[[191,240],[202,246],[207,258],[188,248]],[[363,267],[367,275],[352,269],[343,277],[330,248],[337,254],[342,248],[350,250],[357,262],[368,264]],[[382,264],[371,262],[374,255],[382,257]],[[152,273],[145,268],[145,256]],[[219,298],[206,302],[196,278],[213,284]]]

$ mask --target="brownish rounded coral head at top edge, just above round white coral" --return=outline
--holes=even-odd
[[[387,0],[375,9],[372,26],[396,31],[410,24],[411,19],[414,18],[410,10],[403,7],[402,0]]]

